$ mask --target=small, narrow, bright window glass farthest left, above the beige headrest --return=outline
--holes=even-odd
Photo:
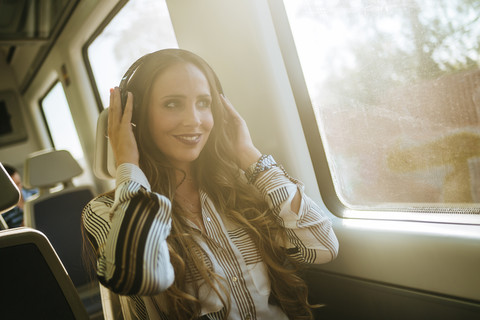
[[[73,122],[70,107],[65,96],[62,84],[57,82],[40,101],[40,107],[56,150],[67,150],[83,168],[84,174],[75,179],[76,183],[90,184],[90,175],[87,175],[88,166],[83,149]]]

